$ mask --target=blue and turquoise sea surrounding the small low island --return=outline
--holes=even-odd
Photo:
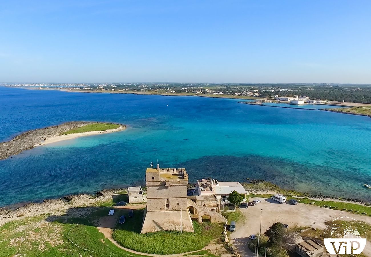
[[[371,118],[193,96],[0,87],[0,141],[66,121],[128,125],[0,160],[0,206],[144,184],[145,169],[190,180],[265,179],[283,188],[371,200]]]

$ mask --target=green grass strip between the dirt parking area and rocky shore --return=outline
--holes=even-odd
[[[272,195],[269,195],[269,194],[250,194],[249,195],[250,198],[253,198],[253,197],[270,198],[271,196]],[[295,198],[291,196],[286,197],[286,200],[290,200],[290,199],[296,199],[298,200],[298,202],[301,202],[303,204],[316,205],[316,206],[325,207],[329,209],[338,209],[338,210],[347,211],[347,212],[354,212],[356,214],[371,216],[371,206],[353,204],[350,202],[317,201],[317,200],[312,200],[308,198]]]

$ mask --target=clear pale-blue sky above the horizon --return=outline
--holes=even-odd
[[[371,83],[371,1],[0,1],[0,82]]]

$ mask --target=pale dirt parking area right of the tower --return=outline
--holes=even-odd
[[[371,224],[371,217],[352,214],[349,212],[322,208],[309,204],[291,205],[288,202],[280,204],[271,199],[256,198],[262,202],[255,206],[249,206],[247,209],[240,209],[246,217],[242,223],[237,223],[236,231],[231,236],[231,243],[236,247],[241,256],[254,256],[247,247],[249,236],[259,233],[260,212],[262,213],[262,234],[275,222],[288,224],[289,227],[311,226],[313,228],[325,229],[325,222],[341,217],[354,218],[358,221],[364,221]],[[262,210],[263,209],[263,210]],[[262,211],[261,211],[262,210]],[[366,244],[363,251],[367,256],[371,256],[371,243]]]

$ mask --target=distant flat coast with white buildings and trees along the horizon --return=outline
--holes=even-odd
[[[233,98],[275,98],[371,104],[371,84],[236,84],[236,83],[66,83],[0,84],[0,86],[165,95],[203,95]],[[287,99],[277,99],[287,97]],[[297,99],[293,99],[297,98]]]

